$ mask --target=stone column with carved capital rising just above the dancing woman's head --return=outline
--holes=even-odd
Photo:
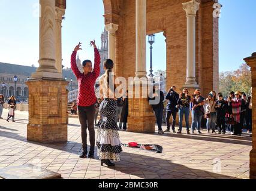
[[[109,58],[115,63],[115,37],[116,30],[118,30],[118,24],[106,24],[105,28],[107,32],[109,32]],[[107,45],[105,42],[104,44]]]

